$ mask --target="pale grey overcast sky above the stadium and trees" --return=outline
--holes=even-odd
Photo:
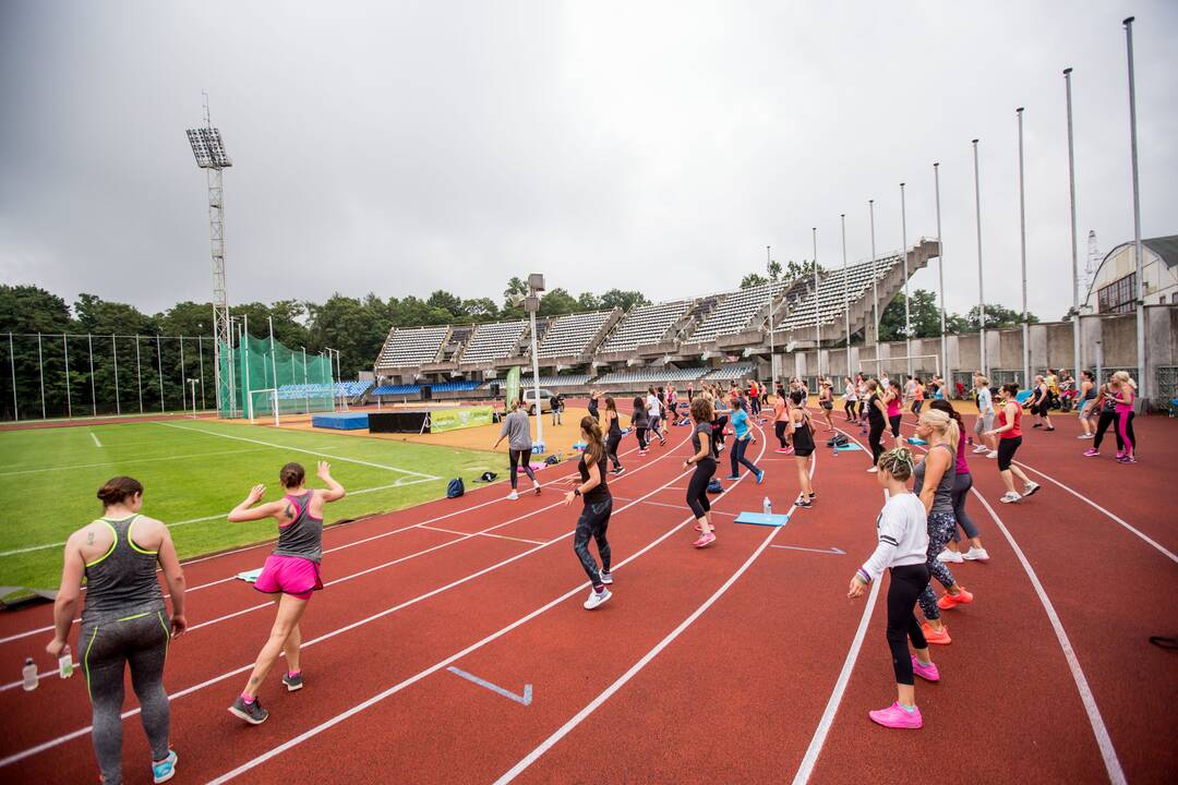
[[[211,95],[231,302],[437,288],[502,299],[543,272],[653,300],[780,261],[937,234],[946,299],[1071,305],[1061,69],[1074,68],[1080,266],[1131,240],[1121,19],[1136,14],[1141,229],[1178,233],[1178,4],[0,0],[0,280],[155,312],[211,297]],[[914,287],[935,287],[935,264]]]

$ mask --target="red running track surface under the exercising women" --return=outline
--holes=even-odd
[[[1178,633],[1178,612],[1166,600],[1178,590],[1178,564],[1159,550],[1178,550],[1162,492],[1178,461],[1176,426],[1141,420],[1136,466],[1081,458],[1087,443],[1074,439],[1070,418],[1060,418],[1055,433],[1030,432],[1019,454],[1157,546],[1041,478],[1035,497],[999,505],[993,461],[971,460],[975,487],[1021,548],[1074,650],[1112,765],[1132,783],[1173,781],[1178,773],[1178,665],[1173,652],[1146,643]],[[615,598],[594,613],[581,607],[587,584],[569,547],[578,507],[556,504],[556,488],[509,503],[497,485],[329,530],[325,548],[342,550],[325,556],[324,572],[339,583],[311,601],[303,637],[305,644],[332,637],[307,646],[302,692],[280,691],[272,676],[263,691],[272,716],[260,727],[243,726],[225,707],[272,612],[246,611],[264,598],[237,580],[193,591],[194,628],[173,645],[165,677],[180,754],[176,781],[251,766],[241,779],[291,785],[491,783],[522,760],[529,765],[517,781],[528,783],[793,779],[807,750],[818,751],[816,729],[868,607],[866,598],[846,599],[846,584],[873,547],[882,495],[863,471],[865,453],[820,451],[813,510],[795,512],[781,530],[719,514],[719,543],[697,552],[684,525],[686,431],[673,428],[676,445],[623,458],[629,471],[611,481]],[[772,450],[762,458],[766,485],[744,479],[717,511],[759,510],[766,493],[779,511],[788,508],[793,458]],[[977,600],[945,614],[954,643],[934,648],[942,681],[916,687],[926,727],[905,733],[867,720],[868,709],[894,699],[880,598],[825,744],[807,758],[810,780],[879,781],[913,765],[958,781],[1108,779],[1091,712],[1027,570],[979,499],[969,511],[992,558],[952,566]],[[439,515],[448,517],[425,523]],[[449,532],[415,526],[423,523]],[[518,539],[450,533],[489,528]],[[190,563],[188,584],[256,567],[266,550]],[[0,638],[48,623],[45,607],[6,614]],[[340,631],[345,625],[356,626]],[[0,643],[2,672],[15,678],[46,637]],[[516,693],[530,684],[534,700],[508,700],[448,672],[450,664]],[[0,712],[11,718],[0,758],[77,733],[0,765],[0,777],[92,781],[81,679],[45,679],[32,693],[5,690]],[[127,781],[148,781],[143,732],[133,717],[125,721]],[[529,759],[537,749],[542,754]]]

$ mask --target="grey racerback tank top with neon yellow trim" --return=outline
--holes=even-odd
[[[102,624],[164,610],[164,593],[155,577],[157,552],[145,551],[131,539],[138,518],[99,519],[111,527],[114,543],[105,556],[86,564],[84,623]]]

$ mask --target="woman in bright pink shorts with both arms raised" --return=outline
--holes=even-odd
[[[319,479],[327,488],[307,491],[303,487],[305,472],[299,464],[286,464],[278,479],[286,492],[282,500],[270,501],[259,507],[266,494],[265,485],[254,485],[245,501],[229,513],[231,523],[273,518],[278,521],[278,545],[266,558],[253,587],[266,594],[277,594],[274,603],[278,614],[270,630],[270,639],[262,647],[258,660],[245,690],[230,706],[230,713],[251,725],[260,725],[270,716],[258,700],[258,688],[270,674],[280,652],[286,652],[286,673],[283,684],[289,692],[303,688],[299,671],[299,646],[303,638],[298,623],[306,610],[311,592],[323,588],[319,579],[319,561],[323,558],[323,505],[344,498],[344,486],[331,479],[331,466],[319,461]]]

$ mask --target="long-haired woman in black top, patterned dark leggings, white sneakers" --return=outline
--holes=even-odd
[[[640,398],[635,399],[641,401]],[[609,492],[609,483],[605,479],[605,445],[602,443],[601,425],[591,417],[581,418],[581,440],[585,443],[585,448],[577,461],[577,472],[581,481],[571,491],[564,494],[564,506],[568,507],[573,500],[581,497],[584,507],[581,517],[577,518],[577,528],[573,535],[573,552],[581,560],[593,591],[584,601],[587,611],[591,611],[613,594],[608,586],[614,583],[614,577],[609,572],[609,540],[605,539],[605,530],[609,528],[609,515],[614,510],[614,497]],[[569,481],[576,481],[570,477]],[[601,567],[589,553],[589,539],[597,543],[597,553],[601,556]]]

